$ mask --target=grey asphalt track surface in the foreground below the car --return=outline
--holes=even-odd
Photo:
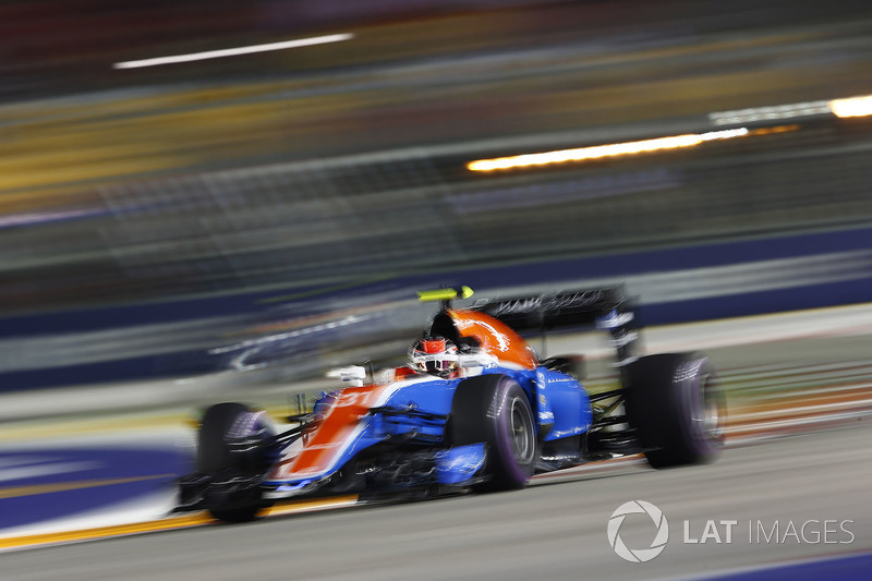
[[[138,535],[0,556],[3,579],[65,580],[499,578],[620,579],[700,577],[739,567],[872,550],[869,476],[872,427],[820,432],[732,448],[712,465],[653,471],[628,465],[543,479],[526,491],[462,496],[246,525]],[[621,504],[643,499],[667,517],[670,537],[646,564],[621,560],[606,523]],[[641,519],[641,520],[640,520]],[[737,520],[732,543],[683,544],[683,520],[699,538],[706,520]],[[852,520],[851,532],[807,544],[758,543],[748,523]],[[641,548],[653,537],[631,516],[621,537]],[[831,526],[832,529],[833,526]],[[836,525],[836,529],[838,525]],[[809,529],[810,530],[810,529]],[[722,540],[725,533],[720,531]],[[811,536],[811,535],[810,535]],[[751,541],[751,542],[749,542]]]

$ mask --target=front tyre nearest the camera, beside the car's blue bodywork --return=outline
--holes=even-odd
[[[533,411],[526,392],[505,375],[480,375],[462,380],[455,391],[448,424],[452,446],[485,443],[488,479],[479,492],[526,486],[537,458]]]

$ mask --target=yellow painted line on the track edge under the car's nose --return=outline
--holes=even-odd
[[[293,515],[296,512],[312,512],[315,510],[342,508],[353,506],[356,504],[356,496],[337,496],[334,498],[324,498],[318,500],[302,500],[292,504],[274,506],[265,511],[265,516],[276,517],[281,515]],[[215,522],[215,519],[209,517],[207,513],[197,513],[186,517],[172,517],[169,519],[148,522],[119,524],[114,526],[100,526],[97,529],[87,529],[83,531],[64,531],[28,536],[12,536],[8,538],[0,538],[0,550],[58,545],[63,543],[76,543],[83,541],[97,541],[113,536],[128,536],[160,531],[174,531],[179,529],[190,529],[192,526],[203,526]]]

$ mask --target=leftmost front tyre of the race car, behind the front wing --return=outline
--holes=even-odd
[[[240,476],[263,475],[269,468],[266,450],[231,453],[228,437],[253,435],[268,429],[257,421],[255,412],[242,403],[218,403],[206,410],[197,436],[196,467],[199,473],[222,473]],[[265,503],[259,488],[222,497],[221,506],[209,507],[209,513],[225,522],[254,520]]]

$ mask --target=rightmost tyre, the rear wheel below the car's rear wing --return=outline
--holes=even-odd
[[[649,355],[626,370],[626,409],[654,468],[711,462],[724,445],[726,398],[708,359]]]

